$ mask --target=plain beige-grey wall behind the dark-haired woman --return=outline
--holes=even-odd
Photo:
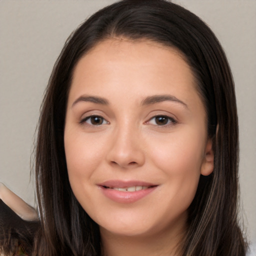
[[[69,33],[113,0],[0,0],[0,181],[34,205],[29,162],[42,94]],[[241,206],[256,243],[256,0],[175,0],[224,47],[236,84]],[[256,255],[253,250],[250,255]]]

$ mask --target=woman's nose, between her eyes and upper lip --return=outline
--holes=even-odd
[[[121,168],[143,165],[145,154],[138,133],[135,128],[127,126],[113,131],[107,161]]]

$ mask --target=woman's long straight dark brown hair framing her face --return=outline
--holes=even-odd
[[[41,107],[35,174],[41,228],[35,255],[100,255],[97,224],[69,185],[63,129],[67,95],[77,61],[96,43],[125,37],[178,49],[190,65],[214,141],[214,170],[201,176],[188,209],[182,255],[244,256],[237,221],[238,124],[234,83],[215,35],[190,11],[165,0],[123,0],[93,14],[67,39],[52,71]]]

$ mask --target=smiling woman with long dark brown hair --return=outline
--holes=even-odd
[[[163,0],[99,10],[68,38],[43,100],[30,250],[245,255],[237,133],[225,54],[198,17]]]

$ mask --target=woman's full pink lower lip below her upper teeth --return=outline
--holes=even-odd
[[[129,192],[129,191],[119,191],[112,188],[105,188],[103,186],[99,186],[101,192],[111,200],[119,203],[131,203],[135,202],[149,193],[151,193],[157,186]]]

